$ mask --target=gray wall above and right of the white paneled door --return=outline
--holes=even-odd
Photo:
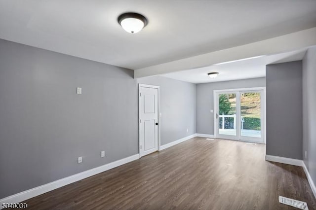
[[[137,82],[160,86],[161,145],[196,133],[196,84],[163,76],[144,77]]]

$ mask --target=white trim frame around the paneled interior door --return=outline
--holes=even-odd
[[[141,146],[141,133],[140,133],[140,128],[141,128],[141,118],[140,118],[140,87],[147,87],[147,88],[156,88],[158,90],[158,151],[160,150],[160,87],[156,86],[156,85],[147,85],[147,84],[141,84],[138,83],[138,151],[139,151],[139,158],[141,158],[143,156],[142,154],[142,149],[140,148]]]

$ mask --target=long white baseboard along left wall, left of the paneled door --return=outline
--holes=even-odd
[[[38,187],[17,193],[15,195],[11,195],[11,196],[8,196],[6,198],[2,198],[2,199],[0,199],[0,204],[2,204],[2,203],[19,203],[19,202],[25,201],[27,199],[33,198],[35,196],[38,196],[40,194],[43,194],[43,193],[49,192],[51,190],[57,189],[59,187],[65,186],[67,184],[70,184],[70,183],[79,181],[81,179],[87,178],[89,176],[108,171],[110,169],[116,168],[118,166],[121,166],[123,164],[129,163],[129,162],[137,160],[137,159],[139,159],[139,154],[135,154],[135,155],[114,161],[112,163],[108,163],[106,165],[99,166],[97,168],[93,168],[93,169],[81,172],[79,174],[71,175],[71,176],[68,176],[68,177],[65,177],[65,178],[62,178],[62,179],[38,186]],[[0,207],[0,209],[1,209],[1,207]]]

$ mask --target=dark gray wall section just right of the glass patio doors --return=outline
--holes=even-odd
[[[302,160],[302,61],[266,67],[267,155]]]

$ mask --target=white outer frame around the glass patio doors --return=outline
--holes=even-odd
[[[266,87],[253,87],[253,88],[236,88],[236,89],[225,89],[225,90],[214,90],[213,91],[213,109],[214,109],[214,114],[213,114],[213,134],[214,134],[214,138],[216,138],[216,130],[217,130],[217,119],[216,119],[216,111],[218,109],[218,105],[216,104],[216,94],[217,93],[221,93],[221,92],[238,92],[239,91],[258,91],[258,90],[262,90],[263,91],[263,96],[261,98],[261,100],[263,101],[263,107],[261,110],[262,114],[263,114],[263,143],[266,143]],[[239,94],[237,94],[239,96]],[[237,98],[236,95],[236,98]],[[239,108],[236,107],[236,110],[239,110]],[[239,110],[240,112],[240,110]],[[237,112],[236,112],[237,113]],[[240,130],[240,129],[239,129]],[[238,134],[238,131],[236,131]],[[240,131],[239,131],[240,132]],[[249,141],[252,142],[251,140],[241,140],[241,141]],[[262,143],[262,142],[257,142],[257,141],[253,141],[256,143]]]

